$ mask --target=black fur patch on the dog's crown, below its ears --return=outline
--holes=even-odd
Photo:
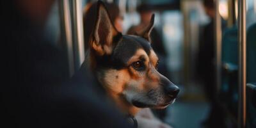
[[[115,44],[115,42],[113,42]],[[122,69],[126,68],[127,61],[134,56],[138,49],[144,49],[144,51],[150,54],[152,47],[150,43],[141,38],[140,36],[124,35],[116,43],[111,55],[104,55],[97,57],[98,68],[114,68]]]

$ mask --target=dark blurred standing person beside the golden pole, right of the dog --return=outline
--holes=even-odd
[[[215,9],[213,0],[204,0],[205,13],[209,16],[210,22],[202,29],[200,46],[198,52],[198,73],[202,77],[204,91],[210,102],[211,109],[208,118],[204,121],[206,127],[225,127],[225,111],[218,101],[216,88],[216,70],[214,61],[214,19]]]

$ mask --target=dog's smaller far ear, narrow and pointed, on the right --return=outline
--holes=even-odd
[[[152,14],[150,23],[148,24],[147,28],[144,29],[143,31],[141,31],[140,33],[138,33],[138,35],[140,35],[143,38],[145,38],[146,40],[148,40],[148,42],[151,42],[150,33],[151,33],[152,29],[154,28],[154,20],[155,20],[155,14]]]

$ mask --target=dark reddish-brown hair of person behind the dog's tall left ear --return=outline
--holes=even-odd
[[[114,23],[115,19],[120,15],[120,10],[115,3],[104,3],[106,6],[110,20]],[[84,49],[88,49],[89,38],[97,19],[97,3],[89,4],[88,10],[83,15],[84,24]]]

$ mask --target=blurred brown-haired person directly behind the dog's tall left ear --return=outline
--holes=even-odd
[[[119,7],[115,3],[104,3],[108,9],[109,16],[115,28],[119,32],[123,32],[124,17],[120,13]],[[83,24],[84,24],[84,48],[88,49],[88,42],[96,22],[97,2],[89,3],[84,7]]]

